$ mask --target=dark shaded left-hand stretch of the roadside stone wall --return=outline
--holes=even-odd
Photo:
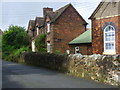
[[[53,53],[25,52],[21,55],[19,62],[62,72],[68,71],[69,66],[67,55]]]

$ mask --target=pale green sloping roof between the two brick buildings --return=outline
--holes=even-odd
[[[71,42],[69,42],[70,45],[72,45],[72,44],[82,44],[82,43],[92,43],[91,30],[85,31],[84,33],[79,35],[77,38],[75,38]]]

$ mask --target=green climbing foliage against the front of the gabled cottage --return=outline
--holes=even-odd
[[[45,43],[46,35],[40,34],[35,40],[35,46],[37,52],[46,52],[46,43]]]

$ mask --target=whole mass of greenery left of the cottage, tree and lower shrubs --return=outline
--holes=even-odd
[[[2,35],[3,59],[18,57],[22,51],[28,50],[27,32],[21,26],[9,26]]]

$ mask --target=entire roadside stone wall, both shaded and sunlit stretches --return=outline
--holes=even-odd
[[[120,55],[60,55],[50,53],[22,53],[19,63],[62,71],[72,76],[120,85]]]

